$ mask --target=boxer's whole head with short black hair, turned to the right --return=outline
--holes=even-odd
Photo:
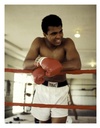
[[[41,24],[43,34],[48,40],[48,43],[53,46],[58,46],[62,42],[63,30],[62,21],[56,15],[48,15],[42,20]]]

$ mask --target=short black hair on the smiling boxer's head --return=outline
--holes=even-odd
[[[44,33],[47,34],[49,26],[61,26],[62,27],[62,20],[59,16],[50,14],[42,19],[41,28]]]

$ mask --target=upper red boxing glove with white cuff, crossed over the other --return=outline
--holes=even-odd
[[[63,68],[58,60],[47,57],[40,57],[37,60],[37,66],[39,65],[46,71],[48,77],[58,75]]]

